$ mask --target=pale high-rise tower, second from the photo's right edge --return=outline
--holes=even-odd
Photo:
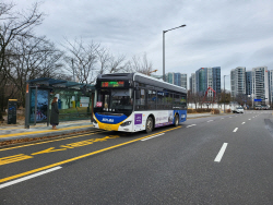
[[[268,67],[252,69],[252,93],[256,105],[269,105],[269,73]]]

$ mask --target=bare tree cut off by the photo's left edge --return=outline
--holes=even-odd
[[[32,31],[43,22],[44,14],[38,12],[38,4],[35,3],[27,12],[15,12],[13,3],[0,3],[0,97],[5,96],[5,81],[9,73],[9,58],[12,55],[10,45],[17,40],[19,37],[34,37]],[[4,101],[0,100],[0,120]]]

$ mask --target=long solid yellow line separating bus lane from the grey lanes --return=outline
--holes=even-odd
[[[181,126],[177,126],[177,128],[174,128],[174,129],[165,130],[165,131],[163,131],[163,132],[157,132],[157,133],[155,133],[155,134],[165,133],[165,132],[168,132],[168,131],[171,131],[171,130],[176,130],[176,129],[179,129],[179,128],[181,128]],[[28,174],[31,174],[31,173],[35,173],[35,172],[38,172],[38,171],[41,171],[41,170],[46,170],[46,169],[49,169],[49,168],[52,168],[52,167],[57,167],[57,166],[60,166],[60,165],[63,165],[63,164],[68,164],[68,162],[71,162],[71,161],[74,161],[74,160],[78,160],[78,159],[82,159],[82,158],[85,158],[85,157],[88,157],[88,156],[92,156],[92,155],[96,155],[96,154],[98,154],[98,153],[103,153],[103,152],[106,152],[106,150],[109,150],[109,149],[112,149],[112,148],[117,148],[117,147],[120,147],[120,146],[123,146],[123,145],[127,145],[127,144],[131,144],[131,143],[141,141],[141,140],[143,140],[143,138],[153,136],[153,135],[155,135],[155,134],[151,134],[151,135],[147,135],[147,136],[143,136],[143,137],[133,140],[133,141],[129,141],[129,142],[121,143],[121,144],[118,144],[118,145],[114,145],[114,146],[110,146],[110,147],[107,147],[107,148],[103,148],[103,149],[99,149],[99,150],[95,150],[95,152],[92,152],[92,153],[88,153],[88,154],[85,154],[85,155],[81,155],[81,156],[78,156],[78,157],[73,157],[73,158],[71,158],[71,159],[67,159],[67,160],[63,160],[63,161],[59,161],[59,162],[56,162],[56,164],[51,164],[51,165],[48,165],[48,166],[45,166],[45,167],[40,167],[40,168],[37,168],[37,169],[33,169],[33,170],[31,170],[31,171],[25,171],[25,172],[23,172],[23,173],[19,173],[19,174],[15,174],[15,176],[11,176],[11,177],[8,177],[8,178],[3,178],[3,179],[0,179],[0,183],[5,182],[5,181],[10,181],[10,180],[13,180],[13,179],[16,179],[16,178],[21,178],[21,177],[24,177],[24,176],[28,176]]]

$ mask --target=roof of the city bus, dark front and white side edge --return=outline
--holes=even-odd
[[[115,80],[132,80],[132,81],[136,81],[136,82],[140,82],[140,83],[153,85],[153,86],[156,86],[156,87],[163,87],[163,88],[166,88],[166,89],[170,89],[170,91],[187,94],[187,89],[183,88],[183,87],[159,81],[157,79],[151,77],[151,76],[142,74],[142,73],[110,73],[110,74],[99,74],[97,76],[97,80],[99,80],[99,81],[102,81],[102,80],[114,80],[114,79]]]

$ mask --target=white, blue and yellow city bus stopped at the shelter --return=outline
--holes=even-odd
[[[187,91],[141,73],[97,76],[93,125],[121,132],[152,132],[187,119]]]

